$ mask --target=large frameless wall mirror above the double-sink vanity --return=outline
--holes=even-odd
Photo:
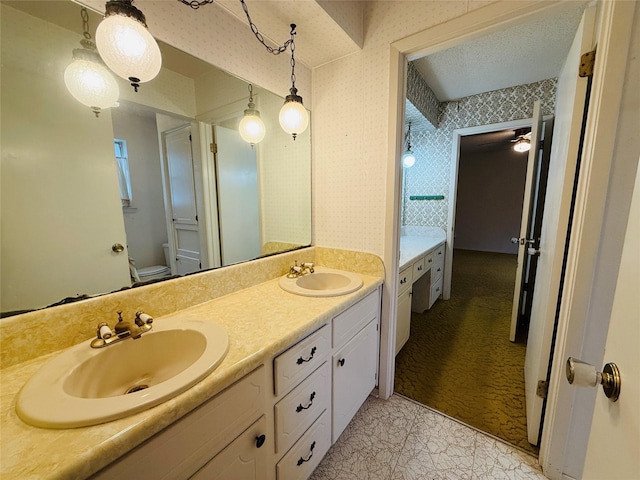
[[[254,147],[237,131],[248,81],[163,44],[160,75],[137,93],[118,79],[96,117],[63,79],[80,5],[0,6],[3,313],[311,243],[310,129],[284,133],[259,78]],[[92,35],[100,20],[89,11]]]

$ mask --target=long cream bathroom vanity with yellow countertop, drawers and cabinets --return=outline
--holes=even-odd
[[[305,250],[296,258],[321,262]],[[230,343],[209,376],[149,410],[90,427],[31,427],[15,414],[15,396],[56,353],[3,369],[2,477],[307,478],[377,383],[382,265],[365,266],[353,293],[310,298],[279,287],[282,266],[293,264],[284,257],[263,260],[279,262],[271,280],[156,315],[155,323],[210,320]]]

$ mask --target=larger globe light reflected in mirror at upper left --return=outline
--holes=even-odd
[[[80,17],[84,36],[80,40],[82,48],[73,50],[73,62],[64,70],[64,83],[73,98],[91,107],[97,117],[102,109],[113,107],[117,103],[120,89],[91,40],[86,8],[80,8]]]

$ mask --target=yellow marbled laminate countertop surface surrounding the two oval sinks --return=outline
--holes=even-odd
[[[91,427],[43,429],[22,422],[15,412],[22,385],[49,358],[48,355],[3,369],[0,420],[0,476],[11,479],[83,479],[97,472],[213,397],[283,349],[328,323],[349,305],[382,283],[362,275],[361,289],[339,297],[302,297],[282,290],[270,280],[206,303],[158,317],[207,319],[229,333],[229,352],[204,380],[186,392],[119,420]],[[150,313],[152,309],[149,309]]]

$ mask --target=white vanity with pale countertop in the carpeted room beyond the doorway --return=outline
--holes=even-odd
[[[401,229],[396,355],[409,339],[411,312],[423,313],[442,295],[445,241],[438,227]]]

